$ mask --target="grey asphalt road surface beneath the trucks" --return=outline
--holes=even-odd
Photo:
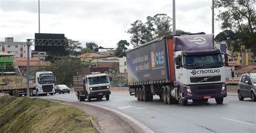
[[[41,98],[79,102],[75,93]],[[239,101],[235,96],[228,96],[222,105],[209,99],[201,104],[189,100],[188,106],[179,106],[165,105],[158,96],[151,102],[142,102],[129,93],[112,93],[109,101],[103,98],[90,104],[119,110],[154,132],[256,132],[256,102],[250,100]]]

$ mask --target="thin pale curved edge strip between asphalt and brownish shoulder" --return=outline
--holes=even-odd
[[[76,102],[76,101],[62,100],[62,99],[54,99],[54,100]],[[134,125],[137,125],[140,129],[142,129],[143,132],[151,132],[151,133],[154,132],[150,128],[146,127],[146,125],[144,125],[143,123],[135,120],[133,117],[131,117],[129,115],[126,115],[126,114],[124,114],[122,112],[119,112],[118,110],[115,110],[115,109],[112,109],[112,108],[107,108],[107,107],[104,107],[104,106],[93,105],[93,104],[89,104],[89,103],[86,103],[86,102],[78,102],[78,103],[94,106],[94,107],[97,107],[97,108],[100,108],[100,109],[104,109],[104,110],[108,110],[108,111],[110,111],[110,112],[112,112],[112,113],[114,113],[116,115],[124,117],[125,119],[129,120],[130,122],[132,122]]]

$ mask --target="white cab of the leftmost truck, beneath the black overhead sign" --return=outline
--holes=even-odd
[[[51,71],[40,71],[36,72],[36,89],[33,90],[33,94],[39,95],[47,95],[55,92],[55,80],[53,73]]]

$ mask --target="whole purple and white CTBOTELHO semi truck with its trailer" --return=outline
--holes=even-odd
[[[165,104],[187,100],[223,103],[227,96],[224,65],[227,55],[213,47],[213,34],[167,35],[126,52],[130,95]]]

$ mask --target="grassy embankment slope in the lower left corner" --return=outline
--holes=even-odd
[[[39,98],[0,98],[0,132],[96,132],[82,110]]]

